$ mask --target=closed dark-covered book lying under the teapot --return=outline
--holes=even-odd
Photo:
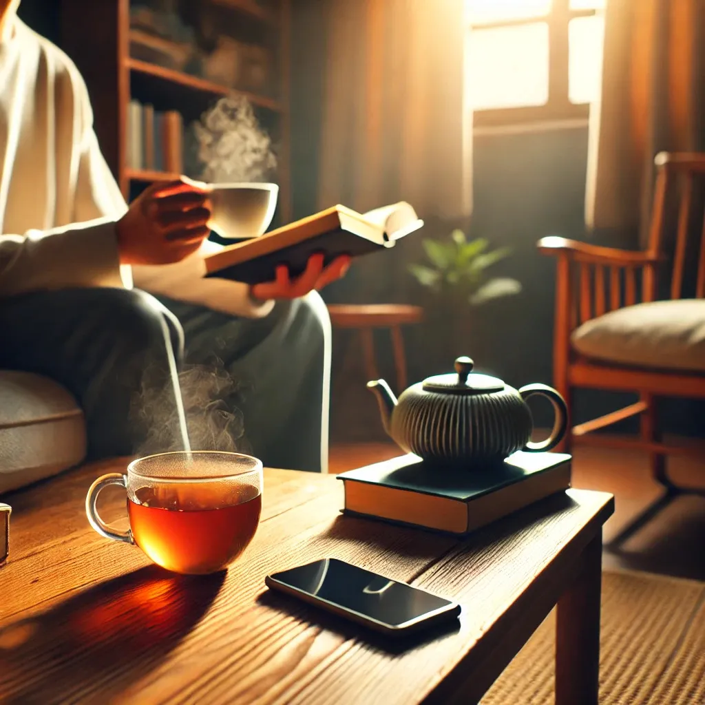
[[[441,469],[402,455],[338,475],[343,513],[459,536],[570,488],[571,456],[514,453],[501,464]]]

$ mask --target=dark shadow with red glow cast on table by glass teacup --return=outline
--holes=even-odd
[[[11,703],[108,701],[164,661],[225,575],[149,565],[3,627],[0,692]]]

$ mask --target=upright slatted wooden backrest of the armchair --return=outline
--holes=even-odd
[[[654,163],[656,188],[648,252],[672,264],[670,280],[663,282],[668,283],[669,298],[704,298],[705,154],[661,152]],[[666,294],[657,279],[665,272],[657,267],[649,264],[645,268],[645,301]]]

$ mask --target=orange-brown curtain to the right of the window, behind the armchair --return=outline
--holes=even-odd
[[[646,244],[658,152],[705,151],[705,0],[608,0],[591,111],[589,228]]]

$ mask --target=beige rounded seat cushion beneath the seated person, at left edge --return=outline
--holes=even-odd
[[[85,458],[83,412],[46,377],[0,370],[0,493]]]

